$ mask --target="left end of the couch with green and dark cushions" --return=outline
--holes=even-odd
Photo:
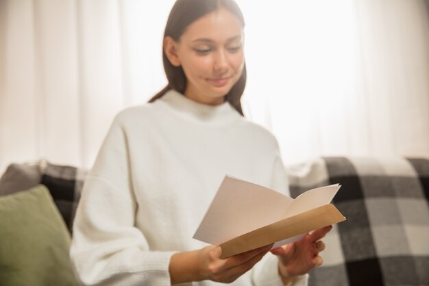
[[[45,160],[0,178],[0,285],[77,286],[71,226],[86,171]]]

